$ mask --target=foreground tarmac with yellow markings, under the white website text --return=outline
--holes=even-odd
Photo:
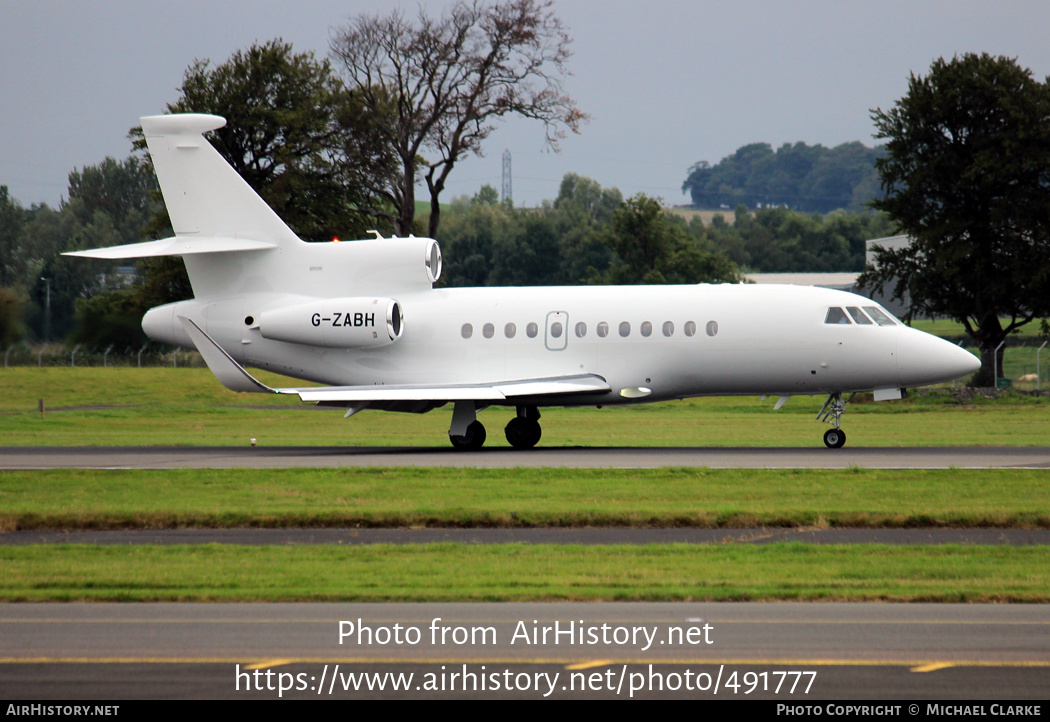
[[[1043,604],[0,604],[0,688],[21,699],[275,699],[284,679],[314,699],[1009,700],[1045,699],[1048,672]]]

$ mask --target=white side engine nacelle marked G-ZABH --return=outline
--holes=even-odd
[[[329,298],[265,311],[256,323],[262,338],[274,341],[369,348],[401,338],[404,315],[391,298]]]

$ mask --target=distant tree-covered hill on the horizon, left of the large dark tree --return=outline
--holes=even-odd
[[[881,194],[875,160],[882,152],[860,142],[834,148],[785,143],[776,151],[769,143],[752,143],[714,166],[694,164],[681,190],[701,209],[732,210],[743,204],[749,209],[859,211]]]

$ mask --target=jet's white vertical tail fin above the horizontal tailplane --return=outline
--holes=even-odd
[[[185,113],[141,121],[175,235],[302,242],[204,139],[225,119]]]

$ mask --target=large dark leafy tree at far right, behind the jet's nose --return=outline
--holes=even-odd
[[[992,385],[995,347],[1050,314],[1050,84],[1010,58],[940,59],[872,118],[888,140],[872,205],[910,243],[878,250],[858,282],[960,321]]]

